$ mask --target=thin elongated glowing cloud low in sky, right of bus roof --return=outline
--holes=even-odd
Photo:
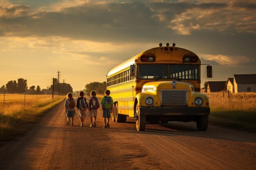
[[[210,55],[199,54],[201,58],[208,61],[217,62],[220,65],[239,65],[242,63],[250,62],[251,60],[246,56],[227,56],[227,55]]]

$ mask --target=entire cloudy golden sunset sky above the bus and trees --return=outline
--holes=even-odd
[[[0,0],[0,86],[24,78],[74,90],[158,46],[189,49],[213,78],[256,73],[255,0]]]

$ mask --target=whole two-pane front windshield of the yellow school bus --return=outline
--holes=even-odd
[[[168,73],[168,67],[170,73]],[[198,65],[152,64],[139,65],[139,79],[193,79],[199,80]]]

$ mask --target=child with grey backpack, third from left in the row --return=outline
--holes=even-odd
[[[90,122],[91,125],[90,127],[96,127],[96,118],[97,118],[97,113],[98,113],[98,108],[99,108],[99,99],[96,97],[96,92],[91,91],[91,97],[89,99],[89,117],[90,117]],[[92,117],[93,117],[93,123],[92,123]]]

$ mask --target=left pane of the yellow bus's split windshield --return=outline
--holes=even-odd
[[[139,65],[139,79],[168,78],[168,65]]]

